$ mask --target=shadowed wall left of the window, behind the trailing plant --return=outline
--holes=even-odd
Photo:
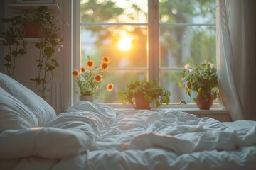
[[[5,4],[2,5],[2,3]],[[13,16],[14,9],[9,8],[7,4],[12,2],[11,0],[1,1],[1,8],[4,10],[4,17],[10,18]],[[64,3],[65,2],[65,3]],[[63,46],[60,48],[60,52],[56,52],[53,57],[58,60],[59,67],[55,69],[54,74],[54,85],[53,89],[48,91],[46,101],[55,108],[57,113],[65,112],[66,108],[71,103],[71,58],[72,58],[72,0],[59,1],[60,11],[53,12],[54,16],[57,16],[61,20],[69,23],[67,25],[60,25],[61,35],[64,38]],[[63,12],[65,11],[65,12]],[[2,17],[1,17],[2,18]],[[1,24],[2,25],[2,24]],[[5,26],[6,29],[6,26]],[[27,86],[32,91],[35,91],[35,84],[29,79],[36,77],[36,60],[38,59],[38,50],[34,47],[35,42],[28,42],[27,55],[25,57],[16,60],[16,70],[13,76],[14,79],[19,81],[21,84]],[[1,45],[1,49],[3,49]],[[0,49],[0,50],[1,50]],[[3,51],[0,51],[3,54]],[[1,55],[2,56],[2,55]],[[1,57],[1,60],[2,57]],[[3,64],[2,64],[3,63]],[[1,62],[0,71],[3,71],[4,62]],[[1,69],[2,68],[2,69]]]

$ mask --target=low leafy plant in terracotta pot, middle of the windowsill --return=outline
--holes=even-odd
[[[122,103],[134,104],[137,109],[149,109],[149,104],[155,104],[156,107],[162,103],[170,102],[171,92],[166,91],[163,87],[152,81],[134,80],[126,85],[125,91],[118,93]],[[142,103],[141,103],[142,102]]]

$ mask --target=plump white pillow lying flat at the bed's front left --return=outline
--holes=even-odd
[[[86,151],[88,140],[90,137],[79,129],[6,130],[0,134],[0,160],[31,156],[63,159]]]

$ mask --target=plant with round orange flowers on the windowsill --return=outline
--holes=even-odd
[[[109,57],[102,57],[102,64],[94,67],[94,61],[87,56],[87,68],[82,67],[80,72],[78,69],[74,69],[72,73],[76,77],[76,83],[80,89],[80,93],[78,94],[81,96],[97,96],[101,91],[102,74],[107,70],[109,63]],[[112,91],[113,87],[113,84],[107,84],[107,91]]]

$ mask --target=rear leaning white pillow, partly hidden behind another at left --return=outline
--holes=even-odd
[[[38,119],[38,126],[42,126],[56,118],[54,109],[43,98],[1,72],[0,87],[31,109]]]

